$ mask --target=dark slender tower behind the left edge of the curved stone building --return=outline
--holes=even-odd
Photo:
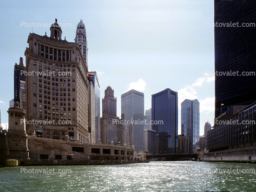
[[[26,67],[23,65],[23,58],[20,57],[20,64],[14,65],[14,102],[20,103],[20,81],[26,82],[26,76],[24,74]]]

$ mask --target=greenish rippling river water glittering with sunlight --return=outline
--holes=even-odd
[[[256,164],[150,162],[0,168],[0,191],[256,191]]]

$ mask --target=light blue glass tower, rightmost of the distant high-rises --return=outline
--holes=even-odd
[[[200,132],[200,111],[197,99],[181,103],[181,134],[190,137],[190,153],[197,152]]]

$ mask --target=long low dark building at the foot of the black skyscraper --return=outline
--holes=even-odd
[[[231,150],[234,154],[230,155],[239,155],[235,149],[244,149],[247,151],[245,154],[255,154],[256,102],[240,110],[235,107],[228,109],[232,113],[224,116],[220,119],[222,121],[218,121],[213,129],[208,131],[209,152]],[[254,147],[253,151],[249,150],[251,147]]]

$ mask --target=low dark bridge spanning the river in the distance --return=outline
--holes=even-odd
[[[164,160],[164,161],[192,160],[192,158],[197,159],[197,154],[157,154],[157,155],[146,154],[147,160],[151,160],[152,158],[157,158],[157,160]]]

